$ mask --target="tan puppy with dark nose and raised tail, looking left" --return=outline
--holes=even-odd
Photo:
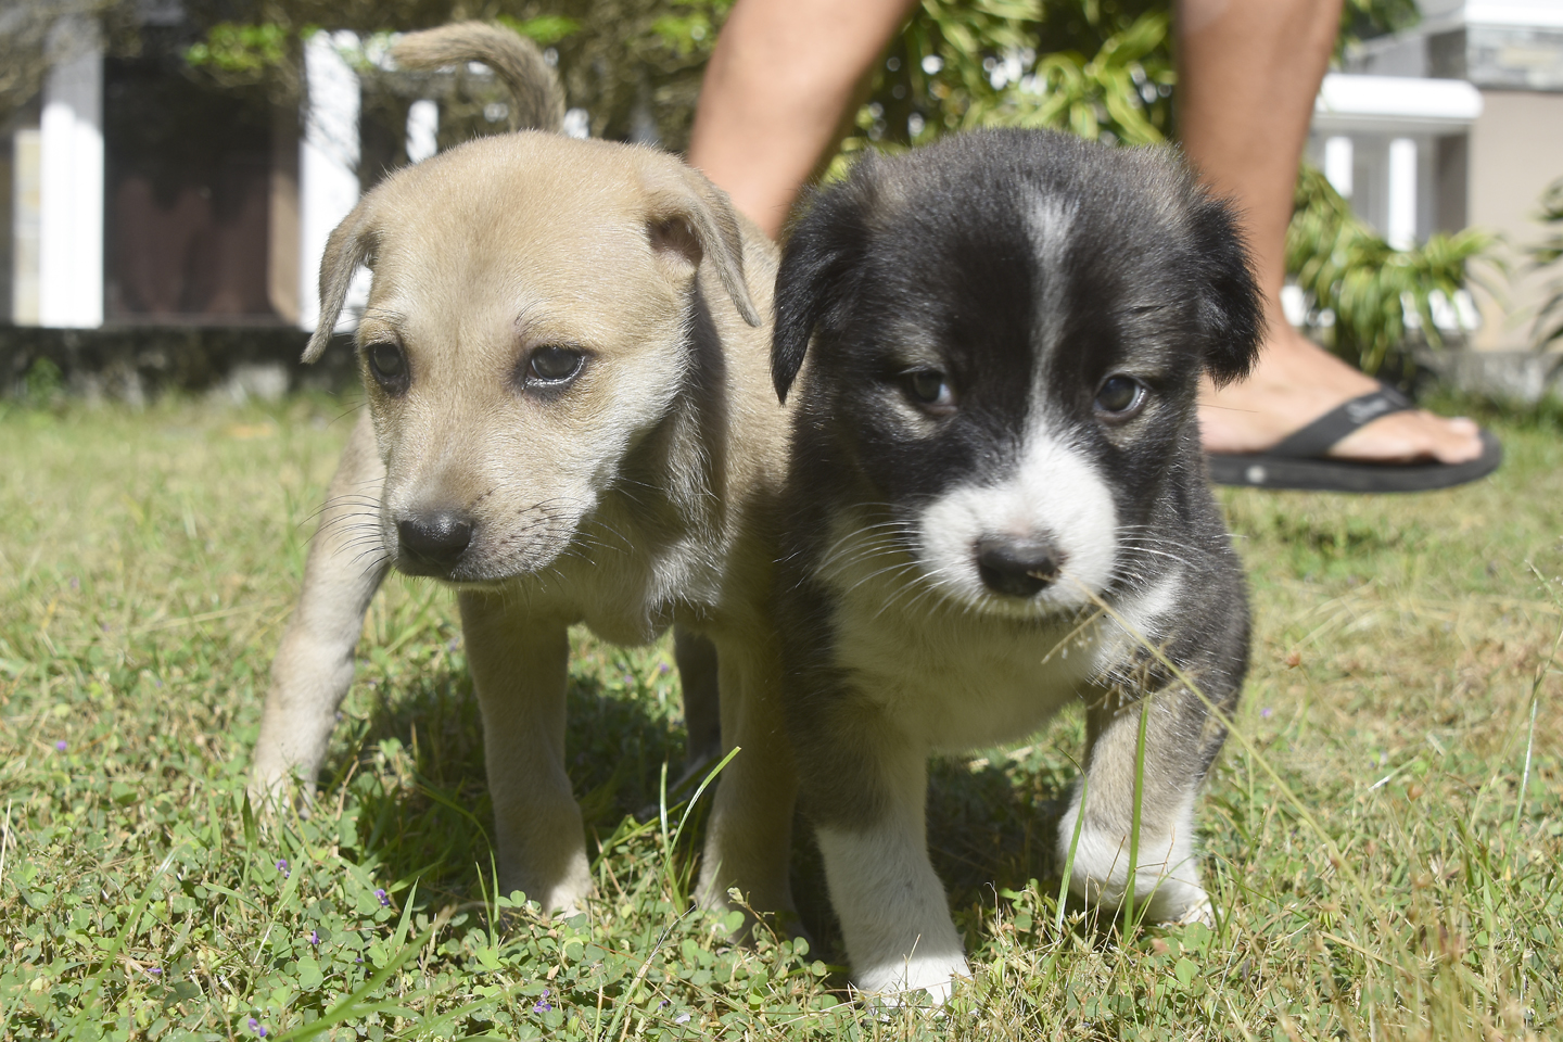
[[[545,66],[528,53],[469,25],[408,37],[397,58],[483,59],[531,89]],[[767,616],[786,414],[760,319],[774,245],[672,156],[528,131],[403,169],[358,205],[327,247],[306,359],[359,264],[374,272],[356,337],[367,419],[272,666],[253,786],[316,776],[386,567],[452,583],[500,886],[580,908],[566,630],[646,644],[678,625],[716,644],[722,744],[742,747],[721,778],[700,900],[719,906],[736,886],[755,908],[789,908],[796,781]]]

